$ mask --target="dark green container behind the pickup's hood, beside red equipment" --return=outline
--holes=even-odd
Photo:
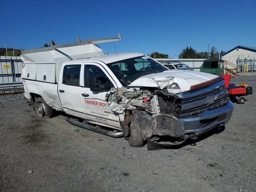
[[[207,59],[200,67],[200,72],[223,75],[224,74],[224,60]]]

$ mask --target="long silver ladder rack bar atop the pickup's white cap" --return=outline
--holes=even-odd
[[[92,40],[90,37],[90,40],[86,41],[80,41],[80,38],[77,38],[77,42],[75,43],[69,43],[69,44],[61,44],[61,45],[52,45],[52,40],[50,41],[49,47],[43,47],[39,49],[30,49],[30,50],[21,50],[22,54],[27,54],[27,53],[36,53],[36,52],[43,52],[43,51],[50,51],[58,48],[64,48],[64,47],[72,47],[72,46],[79,46],[79,45],[86,45],[86,44],[96,44],[96,43],[106,43],[106,42],[114,42],[114,41],[121,41],[121,34],[118,34],[118,37],[113,37],[113,38],[105,38],[105,39],[96,39]]]

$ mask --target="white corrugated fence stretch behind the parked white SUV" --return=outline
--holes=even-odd
[[[172,58],[168,58],[168,59],[159,59],[156,58],[155,60],[157,60],[158,62],[162,63],[162,62],[182,62],[184,64],[186,64],[187,66],[189,66],[190,68],[194,68],[195,71],[200,71],[200,67],[203,64],[204,60],[206,59],[172,59]]]

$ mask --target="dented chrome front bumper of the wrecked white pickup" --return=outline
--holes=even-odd
[[[225,106],[218,109],[206,110],[200,116],[176,118],[169,114],[162,114],[162,118],[160,116],[155,117],[159,119],[156,120],[159,125],[154,135],[172,137],[184,137],[184,135],[190,134],[198,135],[218,125],[226,124],[230,120],[233,110],[234,106],[228,100]],[[172,122],[172,124],[167,122]]]

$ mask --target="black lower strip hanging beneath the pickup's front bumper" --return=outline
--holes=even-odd
[[[147,147],[148,150],[162,150],[162,149],[180,149],[184,146],[196,146],[197,142],[200,142],[214,134],[219,134],[225,130],[225,126],[218,126],[209,132],[198,136],[198,139],[192,140],[192,139],[187,139],[185,142],[182,144],[175,144],[175,140],[170,140],[170,137],[162,137],[160,138],[157,142],[147,142]],[[174,144],[170,144],[170,142],[174,142]],[[168,144],[169,143],[169,144]]]

